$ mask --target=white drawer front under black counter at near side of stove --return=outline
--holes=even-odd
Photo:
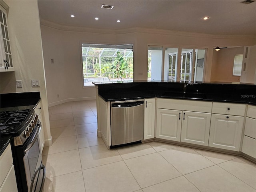
[[[11,145],[9,144],[7,148],[4,150],[0,157],[0,181],[1,185],[4,182],[6,175],[8,174],[11,166],[12,166],[12,151]]]

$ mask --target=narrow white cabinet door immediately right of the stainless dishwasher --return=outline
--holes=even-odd
[[[156,99],[144,100],[144,139],[154,138]]]

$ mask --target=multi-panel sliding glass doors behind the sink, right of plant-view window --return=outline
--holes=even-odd
[[[148,81],[202,82],[205,53],[205,48],[148,46]]]

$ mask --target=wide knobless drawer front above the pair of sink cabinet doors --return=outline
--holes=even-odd
[[[212,102],[158,99],[157,108],[210,113],[212,111]]]

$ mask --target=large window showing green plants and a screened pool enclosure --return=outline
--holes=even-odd
[[[133,80],[133,45],[82,44],[84,86]]]

